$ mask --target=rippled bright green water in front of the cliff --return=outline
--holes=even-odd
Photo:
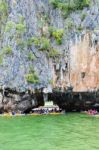
[[[1,117],[0,150],[99,150],[99,119],[83,114]]]

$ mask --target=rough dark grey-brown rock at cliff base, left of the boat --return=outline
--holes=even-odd
[[[43,105],[43,94],[18,93],[5,89],[0,93],[0,112],[30,112],[32,108]]]

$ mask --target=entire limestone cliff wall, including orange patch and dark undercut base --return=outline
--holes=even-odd
[[[44,91],[66,109],[97,104],[97,0],[66,17],[49,0],[0,3],[0,17],[5,16],[0,22],[0,109],[27,111],[43,104]]]

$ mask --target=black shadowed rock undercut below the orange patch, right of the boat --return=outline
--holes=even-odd
[[[49,94],[49,99],[60,108],[69,111],[99,111],[99,92],[56,92]]]

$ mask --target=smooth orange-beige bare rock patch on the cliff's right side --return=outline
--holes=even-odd
[[[70,82],[76,92],[96,91],[99,88],[99,45],[94,43],[98,37],[93,40],[93,36],[94,33],[86,33],[71,50]]]

